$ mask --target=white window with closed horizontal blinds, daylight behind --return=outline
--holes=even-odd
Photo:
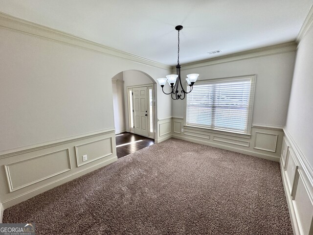
[[[196,82],[186,99],[186,125],[250,134],[254,84],[255,75]]]

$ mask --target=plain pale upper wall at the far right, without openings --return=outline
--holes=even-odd
[[[291,87],[286,130],[313,169],[313,27],[301,40]]]

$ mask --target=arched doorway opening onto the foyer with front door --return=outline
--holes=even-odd
[[[155,86],[151,76],[127,70],[112,77],[117,157],[154,143]]]

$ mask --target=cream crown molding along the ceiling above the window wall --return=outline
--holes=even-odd
[[[296,42],[292,41],[292,42],[277,44],[277,45],[273,45],[269,47],[261,47],[261,48],[246,50],[246,51],[237,52],[237,53],[233,53],[229,55],[214,57],[211,59],[187,63],[181,67],[181,70],[189,70],[189,69],[194,69],[194,68],[199,68],[199,67],[204,67],[204,66],[227,63],[231,61],[238,61],[238,60],[245,60],[245,59],[268,56],[268,55],[288,53],[288,52],[296,51],[296,49],[297,49],[297,44]]]

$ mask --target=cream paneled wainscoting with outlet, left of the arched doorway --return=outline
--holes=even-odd
[[[4,209],[117,161],[115,146],[112,128],[0,155]],[[88,160],[83,162],[82,155]]]

